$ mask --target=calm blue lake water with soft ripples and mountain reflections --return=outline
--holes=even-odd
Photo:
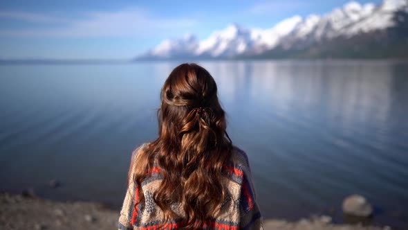
[[[156,138],[160,87],[177,64],[0,66],[0,189],[120,206],[131,151]],[[407,62],[200,64],[266,218],[342,222],[342,199],[360,193],[374,224],[407,226]]]

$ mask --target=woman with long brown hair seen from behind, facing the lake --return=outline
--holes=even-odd
[[[160,98],[158,139],[133,150],[119,229],[262,229],[248,158],[225,132],[210,73],[180,64]]]

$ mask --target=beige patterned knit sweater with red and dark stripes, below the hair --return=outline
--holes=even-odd
[[[146,145],[147,143],[143,143],[133,150],[132,161],[137,152]],[[202,229],[263,229],[262,217],[252,185],[248,157],[245,152],[234,146],[231,159],[223,167],[223,172],[225,173],[223,173],[222,183],[226,185],[228,196],[221,204],[219,215],[212,218],[212,221],[207,221]],[[120,211],[118,229],[159,229],[163,222],[163,211],[154,202],[153,194],[160,186],[161,179],[159,170],[153,168],[153,172],[140,183],[140,186],[132,181],[129,182]],[[140,202],[135,208],[133,206],[141,193],[145,196],[145,201]],[[179,218],[172,220],[171,224],[167,224],[166,229],[178,229],[178,220],[183,219],[185,214],[180,205],[172,205],[171,210]]]

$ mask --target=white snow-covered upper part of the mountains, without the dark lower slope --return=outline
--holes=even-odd
[[[203,40],[196,39],[194,35],[185,35],[180,39],[166,39],[139,58],[273,56],[283,51],[293,53],[293,51],[308,50],[310,53],[313,47],[313,52],[316,53],[316,50],[329,44],[333,45],[333,42],[347,44],[344,47],[347,48],[350,39],[365,42],[369,37],[387,39],[390,36],[384,38],[384,35],[378,37],[376,34],[384,33],[400,24],[404,24],[405,26],[402,27],[407,28],[408,0],[384,0],[378,6],[373,3],[362,5],[351,1],[342,8],[335,8],[325,15],[309,15],[305,18],[295,15],[271,28],[243,28],[237,24],[231,24]],[[398,34],[406,40],[408,37],[406,32],[392,33],[392,35],[395,37],[394,34]],[[403,37],[405,35],[407,37]],[[408,47],[407,41],[405,45]]]

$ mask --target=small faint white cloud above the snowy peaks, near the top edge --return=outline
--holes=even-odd
[[[256,15],[267,15],[282,11],[298,10],[306,6],[306,4],[305,1],[268,1],[255,4],[249,11]]]

